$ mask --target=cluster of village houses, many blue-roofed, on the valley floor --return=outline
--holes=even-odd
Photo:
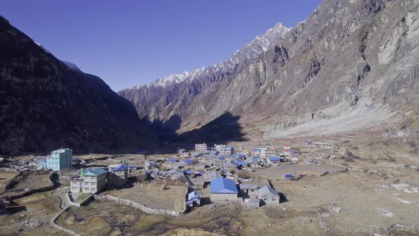
[[[320,148],[325,153],[331,149],[330,144],[325,142],[306,141],[303,146],[308,149]],[[329,156],[322,155],[305,156],[303,163],[323,163]],[[105,189],[125,188],[129,186],[129,182],[133,182],[135,176],[143,175],[148,183],[167,180],[184,183],[187,188],[185,195],[187,208],[224,201],[259,208],[261,205],[279,205],[283,193],[272,188],[267,179],[251,178],[250,173],[256,169],[293,166],[301,162],[299,152],[291,149],[289,145],[283,146],[283,150],[275,150],[270,146],[246,150],[234,149],[233,146],[223,144],[214,144],[213,147],[207,144],[195,144],[187,149],[178,149],[177,154],[168,158],[156,155],[148,157],[146,150],[139,150],[134,156],[138,158],[132,163],[126,159],[119,160],[109,156],[108,161],[119,163],[92,167],[85,160],[73,156],[71,149],[59,149],[52,151],[49,156],[35,156],[32,160],[12,161],[2,166],[14,171],[59,172],[60,178],[70,182],[67,200],[70,204],[78,206]],[[293,180],[299,176],[290,172],[284,173],[281,177]],[[209,194],[204,193],[205,188],[209,188]],[[203,195],[207,197],[203,198]],[[85,199],[80,199],[82,197]],[[1,198],[3,213],[6,213],[6,203],[9,203],[7,194]]]

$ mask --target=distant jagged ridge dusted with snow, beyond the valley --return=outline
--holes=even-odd
[[[182,74],[168,75],[148,85],[122,90],[118,94],[134,104],[141,118],[155,124],[164,123],[169,129],[178,129],[180,119],[185,119],[185,110],[192,105],[195,97],[212,85],[234,77],[242,68],[266,52],[272,42],[282,39],[289,30],[282,23],[278,23],[241,50],[237,50],[223,63]]]

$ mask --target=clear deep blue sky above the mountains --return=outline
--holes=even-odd
[[[115,91],[221,63],[321,0],[4,0],[0,14],[61,60]]]

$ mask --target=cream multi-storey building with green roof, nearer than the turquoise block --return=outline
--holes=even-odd
[[[107,185],[107,171],[103,168],[82,168],[80,178],[70,178],[72,193],[99,193]]]

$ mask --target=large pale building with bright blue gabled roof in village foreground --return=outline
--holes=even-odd
[[[224,200],[237,200],[237,187],[236,183],[228,178],[216,178],[211,181],[211,200],[224,201]]]

